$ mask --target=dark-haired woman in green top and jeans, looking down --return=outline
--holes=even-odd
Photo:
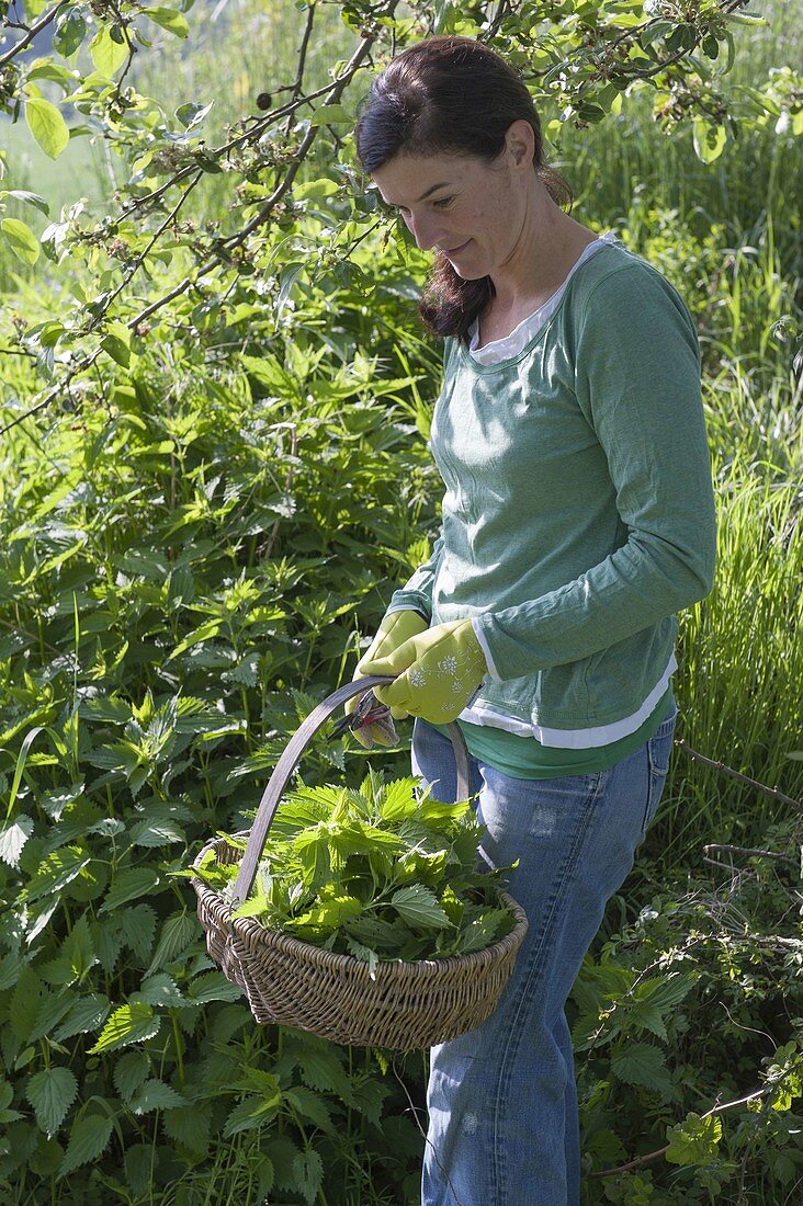
[[[481,43],[396,58],[357,152],[435,254],[446,486],[432,556],[357,675],[396,675],[376,693],[417,718],[413,765],[443,800],[438,726],[460,718],[482,854],[517,862],[529,919],[496,1012],[431,1053],[423,1204],[575,1206],[564,1006],[663,788],[674,615],[714,572],[697,338],[653,268],[560,207],[530,95]]]

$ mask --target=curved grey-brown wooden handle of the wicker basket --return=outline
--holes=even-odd
[[[354,683],[345,683],[343,686],[338,687],[337,691],[333,691],[332,695],[328,695],[321,703],[319,703],[290,738],[290,742],[277,762],[273,774],[268,780],[268,785],[262,794],[262,800],[260,801],[254,826],[249,835],[248,845],[245,847],[245,853],[240,860],[240,870],[234,883],[234,908],[237,908],[238,904],[242,904],[248,894],[251,891],[251,885],[256,877],[256,868],[260,859],[262,857],[262,850],[264,849],[264,843],[268,839],[268,832],[270,830],[277,808],[279,807],[279,801],[281,800],[281,795],[290,781],[291,774],[301,762],[302,754],[307,749],[309,742],[315,736],[318,730],[326,724],[332,713],[337,712],[342,704],[344,704],[348,699],[351,699],[355,695],[362,695],[370,687],[378,686],[380,683],[392,683],[392,677],[388,678],[386,675],[374,674],[370,678],[357,679]],[[447,728],[449,731],[452,745],[454,747],[458,771],[456,798],[467,800],[471,795],[471,778],[469,773],[469,751],[466,749],[466,743],[462,739],[462,733],[454,722],[448,725]]]

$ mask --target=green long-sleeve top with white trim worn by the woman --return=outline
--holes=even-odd
[[[683,303],[621,244],[601,248],[518,356],[482,365],[447,341],[431,443],[442,537],[391,608],[473,620],[490,674],[466,719],[606,744],[665,674],[675,613],[712,581]]]

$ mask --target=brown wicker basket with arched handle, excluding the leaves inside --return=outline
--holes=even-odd
[[[245,851],[225,838],[203,848],[193,866],[208,850],[214,850],[219,862],[240,860],[235,902],[245,900],[251,889],[281,794],[309,739],[347,699],[384,681],[370,678],[350,683],[310,713],[277,763],[254,827],[244,835]],[[458,798],[467,798],[469,761],[456,725],[450,726],[450,736],[458,760]],[[379,962],[372,979],[367,962],[268,930],[254,918],[233,918],[232,906],[220,892],[196,878],[192,884],[209,954],[243,989],[256,1020],[298,1026],[354,1046],[409,1050],[473,1030],[496,1007],[526,932],[523,909],[502,894],[517,924],[494,946],[448,959]]]

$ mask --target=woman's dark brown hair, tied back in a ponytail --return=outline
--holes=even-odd
[[[374,172],[396,154],[440,153],[495,159],[510,125],[529,122],[533,166],[551,197],[571,207],[566,182],[543,162],[541,122],[516,70],[471,37],[431,37],[405,51],[378,76],[357,122],[357,157]],[[489,276],[465,281],[442,252],[419,303],[436,335],[469,341],[469,328],[494,297]]]

